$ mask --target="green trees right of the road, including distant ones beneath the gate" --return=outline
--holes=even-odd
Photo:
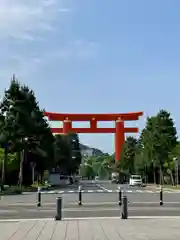
[[[88,169],[83,172],[100,176],[99,169],[105,169],[109,172],[106,175],[108,178],[112,172],[123,176],[141,174],[150,182],[173,184],[175,159],[176,163],[180,161],[180,142],[170,113],[160,110],[155,116],[147,118],[139,138],[127,137],[120,161],[114,162],[114,154],[101,158],[87,159],[88,165],[83,168],[87,166]]]

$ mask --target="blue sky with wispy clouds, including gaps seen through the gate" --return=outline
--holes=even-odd
[[[127,124],[142,129],[164,108],[179,132],[179,9],[179,0],[1,0],[0,94],[15,73],[47,111],[144,111]],[[113,135],[80,139],[114,149]]]

